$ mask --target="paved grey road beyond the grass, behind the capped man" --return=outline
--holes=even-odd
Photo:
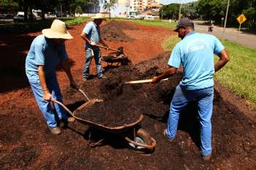
[[[221,27],[215,26],[214,31],[209,33],[208,26],[195,24],[195,31],[213,34],[214,36],[217,36],[219,39],[222,39],[223,28]],[[256,35],[238,31],[236,28],[226,28],[224,39],[227,39],[230,42],[237,42],[240,45],[256,49]]]

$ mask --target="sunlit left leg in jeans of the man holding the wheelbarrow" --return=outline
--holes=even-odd
[[[43,98],[42,87],[39,82],[30,82],[31,89],[34,93],[34,97],[36,98],[39,109],[42,112],[42,115],[45,117],[46,123],[50,128],[55,128],[57,126],[53,109],[50,107],[50,102],[45,101]]]

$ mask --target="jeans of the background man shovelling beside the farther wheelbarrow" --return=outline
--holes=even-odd
[[[97,69],[97,77],[102,77],[102,65],[101,65],[101,54],[100,50],[94,50],[94,56],[91,54],[91,48],[86,49],[86,63],[83,70],[83,77],[88,78],[89,77],[89,67],[91,64],[91,59],[94,57],[94,61],[96,64]]]

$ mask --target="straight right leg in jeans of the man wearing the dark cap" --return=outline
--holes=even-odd
[[[200,147],[203,156],[211,155],[211,115],[214,100],[214,87],[200,90],[197,97],[200,117]]]

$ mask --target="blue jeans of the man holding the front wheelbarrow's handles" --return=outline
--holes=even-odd
[[[42,112],[42,115],[45,117],[46,123],[50,128],[54,128],[57,126],[57,122],[55,120],[55,115],[53,109],[50,106],[49,101],[45,101],[43,98],[42,86],[39,80],[29,80],[31,85],[31,89],[34,93],[34,97],[36,98],[39,109]],[[46,79],[46,84],[48,90],[50,91],[53,98],[62,102],[61,90],[59,88],[59,83],[57,81],[56,76],[50,77]],[[56,113],[60,120],[67,120],[67,113],[64,109],[59,106],[59,104],[54,103],[54,107],[56,109]]]

